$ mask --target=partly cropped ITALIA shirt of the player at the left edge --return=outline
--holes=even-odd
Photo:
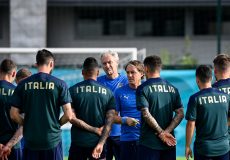
[[[0,80],[0,143],[5,144],[14,135],[18,125],[10,118],[10,98],[15,86]]]

